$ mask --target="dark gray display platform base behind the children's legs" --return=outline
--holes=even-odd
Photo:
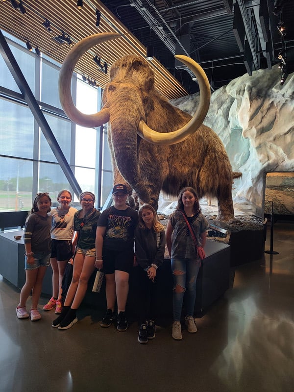
[[[25,245],[23,230],[0,233],[0,274],[21,289],[25,283]],[[21,235],[20,240],[14,236]],[[230,246],[215,241],[207,241],[206,258],[202,260],[196,283],[195,315],[202,315],[207,308],[220,298],[229,288]],[[133,268],[129,279],[129,296],[127,310],[137,313],[138,268]],[[90,278],[84,303],[98,310],[106,309],[105,281],[101,293],[92,293],[95,273]],[[157,273],[158,314],[163,317],[172,316],[172,269],[171,260],[165,259]],[[52,270],[49,267],[43,281],[42,294],[52,294]]]

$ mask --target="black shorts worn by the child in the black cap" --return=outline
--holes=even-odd
[[[134,263],[134,250],[103,249],[103,272],[105,275],[115,270],[130,273]]]

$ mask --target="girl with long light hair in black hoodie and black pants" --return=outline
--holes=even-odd
[[[165,251],[165,231],[154,208],[143,204],[138,212],[135,230],[135,255],[138,269],[138,309],[140,315],[139,343],[155,338],[156,274],[162,265]]]

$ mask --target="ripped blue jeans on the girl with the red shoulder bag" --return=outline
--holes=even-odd
[[[199,262],[196,259],[172,259],[172,316],[173,321],[180,321],[185,294],[186,316],[193,316],[196,299],[196,279]]]

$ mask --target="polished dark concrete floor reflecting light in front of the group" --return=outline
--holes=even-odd
[[[278,255],[232,271],[232,287],[182,341],[169,326],[139,344],[135,322],[102,329],[87,308],[67,331],[51,327],[53,312],[17,319],[19,290],[0,276],[0,391],[293,392],[293,222],[275,223],[273,245]]]

